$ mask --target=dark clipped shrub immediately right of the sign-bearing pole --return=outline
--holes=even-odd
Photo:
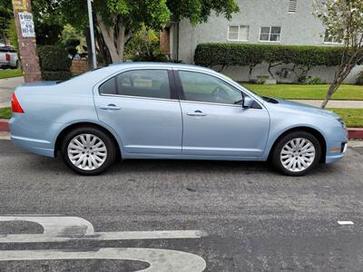
[[[64,81],[72,77],[72,61],[64,48],[44,45],[38,48],[38,54],[44,81]]]

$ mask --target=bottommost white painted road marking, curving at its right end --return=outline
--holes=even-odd
[[[142,261],[150,267],[139,272],[200,272],[206,267],[202,257],[176,250],[154,248],[100,248],[96,251],[69,250],[4,250],[0,261],[59,259],[126,259]]]

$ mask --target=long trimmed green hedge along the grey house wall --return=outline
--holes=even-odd
[[[194,62],[205,67],[248,66],[250,79],[253,69],[260,63],[267,63],[271,69],[283,64],[299,81],[304,81],[314,66],[336,66],[340,63],[342,50],[329,46],[296,46],[280,44],[199,44],[195,50]]]

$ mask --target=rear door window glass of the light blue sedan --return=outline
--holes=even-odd
[[[100,93],[170,99],[168,71],[134,70],[120,73],[103,83]]]

